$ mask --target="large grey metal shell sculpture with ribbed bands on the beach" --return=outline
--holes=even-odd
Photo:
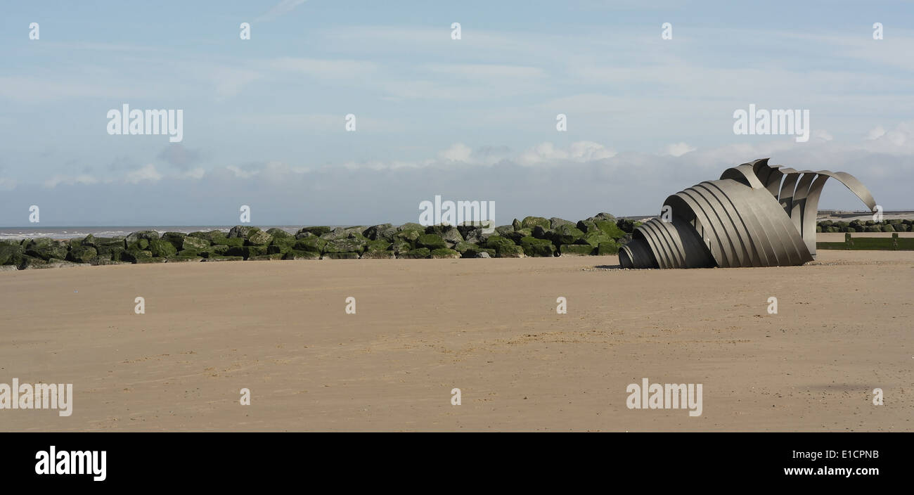
[[[815,258],[819,195],[829,178],[876,208],[851,174],[797,171],[765,158],[667,197],[665,215],[635,229],[619,262],[626,269],[802,265]]]

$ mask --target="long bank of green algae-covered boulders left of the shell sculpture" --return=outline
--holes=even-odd
[[[640,225],[608,213],[571,222],[527,216],[512,225],[483,227],[306,226],[292,234],[281,228],[234,226],[228,233],[133,232],[119,237],[68,240],[0,240],[3,269],[80,265],[175,263],[279,259],[523,258],[614,255]]]

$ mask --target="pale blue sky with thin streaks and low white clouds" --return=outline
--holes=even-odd
[[[912,54],[899,1],[5,2],[0,226],[654,215],[758,158],[914,209]],[[123,104],[183,139],[110,134]],[[736,134],[749,104],[808,110],[809,141]],[[834,183],[820,208],[866,206]]]

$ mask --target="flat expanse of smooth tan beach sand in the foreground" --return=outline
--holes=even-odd
[[[71,383],[75,395],[72,416],[0,410],[0,429],[914,430],[914,252],[596,268],[617,263],[0,272],[0,383]],[[559,296],[568,314],[556,313]],[[702,416],[628,409],[626,385],[643,377],[703,384]],[[872,403],[877,387],[885,405]],[[241,388],[251,405],[239,405]]]

